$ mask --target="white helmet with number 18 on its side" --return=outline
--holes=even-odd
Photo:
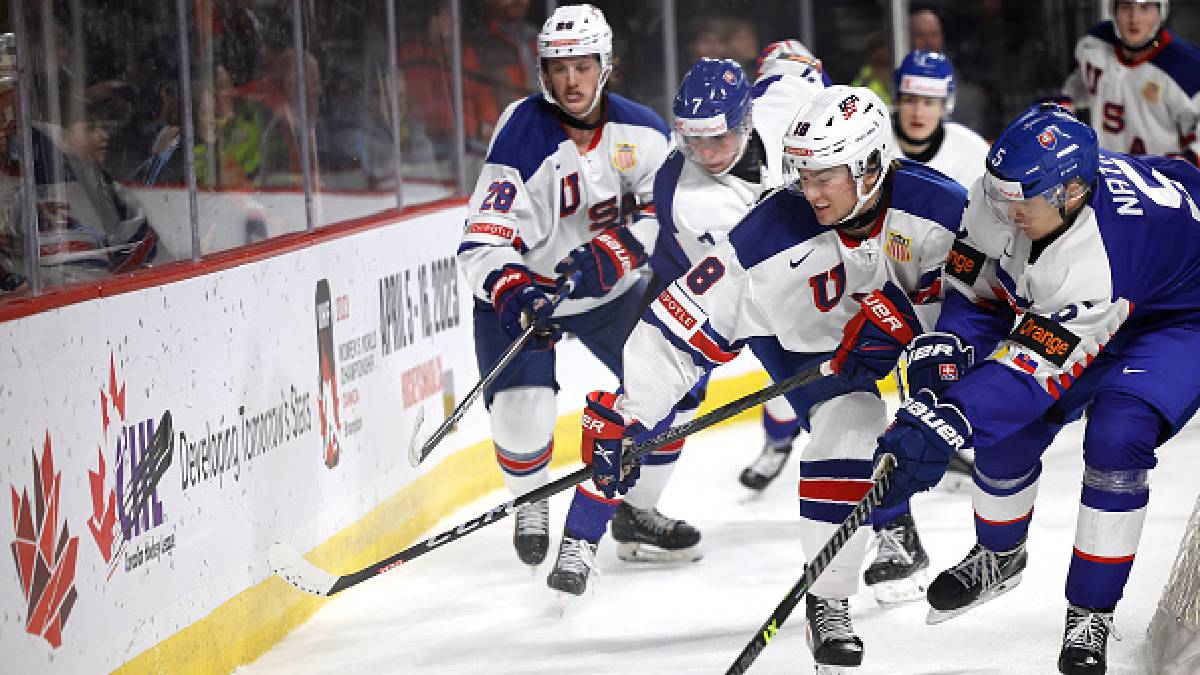
[[[834,85],[800,107],[784,132],[784,183],[803,193],[800,171],[845,166],[854,179],[858,202],[839,223],[859,215],[883,186],[882,174],[895,159],[892,115],[865,86]],[[868,174],[880,179],[864,195]]]

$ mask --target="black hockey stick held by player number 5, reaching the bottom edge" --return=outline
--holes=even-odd
[[[787,595],[784,596],[784,601],[779,603],[775,611],[770,613],[770,616],[767,617],[767,622],[762,625],[762,628],[760,628],[746,646],[742,649],[742,653],[738,655],[733,665],[730,665],[730,669],[725,671],[726,675],[742,675],[750,668],[750,664],[758,658],[762,650],[767,649],[772,638],[774,638],[775,633],[778,633],[780,627],[784,626],[784,621],[787,621],[788,615],[791,615],[792,610],[796,609],[796,605],[799,604],[800,598],[803,598],[804,595],[809,592],[809,589],[812,587],[812,584],[816,583],[817,577],[821,577],[821,573],[824,572],[826,567],[829,566],[829,562],[838,555],[838,551],[846,545],[846,542],[850,540],[851,536],[853,536],[858,527],[866,520],[866,518],[871,514],[871,510],[878,506],[880,500],[883,498],[883,494],[887,492],[888,488],[892,485],[892,472],[895,470],[895,465],[896,460],[892,454],[884,454],[880,458],[880,464],[875,466],[875,474],[871,477],[872,480],[875,480],[875,485],[872,485],[871,490],[858,501],[858,504],[854,506],[854,510],[850,512],[846,520],[841,521],[841,526],[838,527],[838,531],[834,532],[832,537],[829,537],[826,545],[821,546],[817,555],[812,556],[812,560],[804,566],[804,575],[802,575],[796,585],[792,586],[792,590],[787,591]]]

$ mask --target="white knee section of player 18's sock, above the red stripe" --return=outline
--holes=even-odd
[[[875,394],[851,392],[817,405],[811,420],[805,461],[871,459],[888,423],[888,406]]]

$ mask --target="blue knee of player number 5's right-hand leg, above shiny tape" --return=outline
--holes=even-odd
[[[1141,399],[1123,392],[1096,398],[1084,432],[1084,462],[1098,471],[1148,470],[1164,429],[1162,416]]]

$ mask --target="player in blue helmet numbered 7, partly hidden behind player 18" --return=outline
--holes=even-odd
[[[776,118],[788,107],[787,114],[794,114],[797,106],[823,88],[820,80],[812,84],[806,79],[788,83],[784,79],[791,80],[792,76],[751,86],[742,66],[731,59],[701,59],[684,76],[672,103],[676,149],[654,179],[659,237],[649,258],[654,276],[643,306],[715,244],[725,241],[769,185],[769,165],[774,165],[775,175],[781,175],[781,139],[787,120]],[[764,101],[760,114],[758,106]],[[762,124],[779,130],[774,142],[760,133]],[[706,383],[707,378],[698,382],[680,400],[674,414],[668,416],[672,424],[695,414]],[[601,495],[582,491],[568,512],[564,537],[586,538],[594,545],[611,518],[617,556],[622,560],[698,560],[700,532],[656,508],[682,449],[680,440],[643,458],[641,477],[619,506]],[[589,567],[566,565],[570,560],[562,562],[559,566],[556,561],[548,585],[582,593]]]

